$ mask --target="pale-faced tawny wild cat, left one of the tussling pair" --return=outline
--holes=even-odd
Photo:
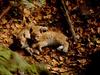
[[[29,45],[28,39],[33,38],[33,37],[31,37],[31,33],[33,33],[35,36],[40,36],[41,30],[45,31],[45,30],[48,30],[48,28],[43,27],[43,26],[32,26],[31,28],[26,27],[26,28],[16,31],[13,34],[14,39],[17,40],[17,42],[18,42],[16,44],[20,44],[18,47],[25,49],[30,55],[32,55],[32,52],[30,51],[32,49]],[[15,43],[15,42],[13,41],[13,43]]]

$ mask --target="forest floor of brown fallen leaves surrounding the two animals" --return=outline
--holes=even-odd
[[[16,52],[23,55],[30,63],[46,64],[47,69],[54,75],[92,75],[93,73],[96,75],[95,67],[91,67],[94,68],[91,70],[89,68],[94,61],[100,62],[98,55],[96,56],[96,54],[100,55],[100,2],[92,1],[65,1],[77,42],[72,39],[60,0],[50,0],[50,2],[48,0],[46,6],[37,6],[33,14],[30,14],[27,9],[24,9],[22,14],[18,8],[12,7],[0,20],[0,44],[9,47],[13,42],[13,34],[17,34],[30,22],[47,26],[51,30],[60,30],[68,36],[70,44],[68,53],[48,47],[44,48],[40,54],[34,54],[34,57],[29,56],[20,48],[16,49]],[[0,9],[0,12],[2,10]],[[95,64],[97,66],[98,63]],[[90,74],[87,69],[93,73]]]

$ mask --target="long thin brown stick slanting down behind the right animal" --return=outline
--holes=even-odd
[[[68,25],[70,27],[70,31],[72,33],[73,39],[75,41],[77,41],[76,35],[75,35],[75,31],[74,31],[74,26],[73,26],[72,21],[71,21],[71,19],[69,17],[68,10],[67,10],[66,4],[65,4],[65,0],[61,0],[61,3],[63,5],[63,9],[65,10],[65,18],[66,18],[66,20],[68,22]]]

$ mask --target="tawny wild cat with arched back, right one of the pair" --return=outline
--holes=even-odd
[[[43,47],[46,46],[52,46],[52,45],[57,45],[60,44],[57,49],[62,49],[63,52],[68,51],[69,43],[66,41],[67,37],[61,33],[61,32],[56,32],[56,31],[47,31],[41,34],[37,38],[38,43],[33,44],[32,48],[39,47],[39,50],[42,51]]]

